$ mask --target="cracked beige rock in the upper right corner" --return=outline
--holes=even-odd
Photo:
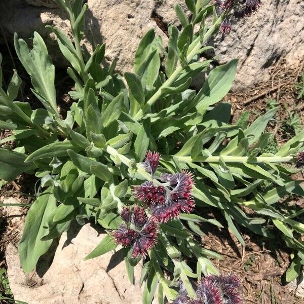
[[[263,1],[260,10],[218,35],[215,54],[220,63],[239,59],[234,89],[242,90],[268,81],[269,67],[280,59],[298,65],[304,59],[304,2]]]

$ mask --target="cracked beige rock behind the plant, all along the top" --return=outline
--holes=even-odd
[[[178,25],[174,5],[184,0],[88,0],[86,39],[106,43],[106,60],[118,59],[117,69],[133,70],[133,59],[143,34],[151,27],[167,42],[168,23]],[[39,31],[55,63],[63,64],[54,35],[45,25],[55,25],[69,35],[65,14],[54,8],[53,0],[2,0],[2,24],[10,41],[12,34],[28,38]],[[218,34],[210,41],[216,46],[219,63],[239,58],[235,90],[252,87],[270,79],[269,67],[285,59],[297,65],[304,59],[304,2],[302,0],[263,1],[257,14],[233,25],[228,35]],[[165,32],[164,32],[165,31]]]

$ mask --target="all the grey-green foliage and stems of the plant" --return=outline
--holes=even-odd
[[[170,26],[168,52],[160,37],[149,30],[135,54],[134,72],[123,79],[114,71],[116,61],[101,65],[104,45],[96,46],[92,54],[81,48],[87,5],[82,0],[57,2],[66,11],[73,34],[71,42],[60,30],[49,27],[57,35],[59,49],[70,63],[67,73],[75,82],[66,119],[57,113],[54,67],[38,33],[32,50],[17,36],[15,46],[31,75],[33,93],[45,108],[34,111],[30,104],[16,100],[21,84],[17,73],[7,92],[0,88],[0,126],[13,133],[3,142],[16,142],[15,151],[0,150],[0,178],[13,180],[27,172],[46,187],[28,211],[19,247],[23,270],[33,270],[52,240],[67,231],[72,221],[83,224],[92,219],[106,230],[118,229],[119,211],[134,203],[132,186],[150,179],[140,166],[150,149],[162,154],[156,176],[184,169],[194,174],[197,207],[193,214],[161,225],[158,244],[143,263],[144,304],[151,303],[157,290],[160,302],[164,296],[172,300],[179,279],[192,294],[189,277],[217,272],[210,259],[221,255],[203,248],[194,238],[204,233],[201,222],[222,226],[204,215],[205,207],[219,209],[243,245],[241,226],[269,238],[279,232],[294,250],[296,258],[288,274],[295,277],[299,260],[304,261],[304,244],[295,233],[303,233],[304,226],[297,221],[297,213],[282,214],[277,204],[287,194],[303,195],[301,181],[290,177],[299,170],[284,163],[293,162],[303,149],[304,131],[277,153],[265,153],[270,134],[264,130],[277,108],[249,126],[247,113],[237,125],[230,124],[231,106],[220,101],[231,89],[237,60],[208,72],[198,92],[191,88],[192,79],[212,62],[200,61],[200,54],[209,49],[206,42],[225,16],[214,14],[213,23],[207,24],[212,14],[208,1],[206,6],[186,1],[193,13],[191,20],[177,6],[183,26],[181,30]],[[258,186],[264,181],[273,187],[261,191]],[[248,208],[250,214],[244,211]],[[115,248],[108,236],[87,258]],[[124,255],[132,280],[138,260],[130,257],[128,249]],[[186,256],[195,259],[196,269],[186,265]],[[174,274],[171,281],[165,272]]]

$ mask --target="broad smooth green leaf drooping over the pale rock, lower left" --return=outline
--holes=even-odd
[[[45,254],[52,244],[52,240],[41,241],[47,233],[47,219],[56,208],[56,199],[51,189],[43,192],[28,210],[23,234],[19,243],[19,258],[23,271],[31,272],[38,259]]]

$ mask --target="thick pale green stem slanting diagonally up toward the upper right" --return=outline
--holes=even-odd
[[[215,32],[217,29],[217,26],[223,21],[225,17],[225,14],[222,14],[216,22],[209,28],[209,30],[204,35],[203,41],[200,40],[200,36],[197,37],[197,39],[191,44],[191,46],[194,45],[192,51],[187,55],[187,63],[189,63],[193,57],[198,53],[198,51],[201,49],[202,45],[207,41],[207,39]],[[191,47],[190,46],[190,47]],[[164,88],[169,87],[179,76],[180,72],[183,70],[183,66],[179,64],[175,71],[171,74],[171,76],[163,83],[163,85],[154,93],[154,95],[146,102],[143,109],[140,109],[136,115],[134,116],[134,119],[136,121],[140,120],[144,113],[154,104],[158,101],[160,96],[162,95],[162,90]]]

